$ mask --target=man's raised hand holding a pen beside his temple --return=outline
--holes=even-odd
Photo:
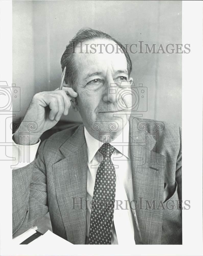
[[[23,121],[34,121],[38,125],[37,130],[30,134],[30,144],[37,143],[42,133],[56,125],[62,114],[68,114],[71,101],[77,96],[77,92],[65,86],[62,90],[39,92],[33,96],[23,119]],[[27,126],[23,127],[22,122],[20,131],[23,132],[24,130],[27,130]]]

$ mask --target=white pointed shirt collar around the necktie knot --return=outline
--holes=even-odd
[[[88,162],[90,163],[95,154],[97,153],[97,151],[99,150],[99,148],[104,143],[92,137],[92,135],[89,134],[86,128],[84,129],[84,132],[85,140],[87,143]],[[112,142],[110,142],[110,144],[113,145],[121,154],[130,159],[129,146],[122,146],[122,142],[129,142],[129,122],[127,122],[127,124],[123,128],[123,132],[121,132],[121,134],[119,134]]]

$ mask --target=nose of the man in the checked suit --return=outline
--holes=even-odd
[[[113,77],[109,76],[105,81],[103,101],[107,103],[116,102],[116,84],[114,83]]]

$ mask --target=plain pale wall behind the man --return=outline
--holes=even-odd
[[[102,30],[123,44],[181,44],[181,1],[13,1],[13,83],[21,88],[25,115],[33,95],[54,90],[61,79],[60,59],[83,27]],[[130,54],[136,86],[148,87],[144,118],[181,125],[182,55]],[[15,105],[13,106],[15,109]],[[69,112],[62,120],[80,121]]]

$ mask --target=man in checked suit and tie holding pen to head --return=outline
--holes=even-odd
[[[52,135],[13,170],[15,236],[49,211],[53,232],[74,244],[181,244],[180,129],[137,118],[130,57],[108,34],[80,30],[61,65],[63,90],[35,94],[20,131],[37,123],[36,152],[70,105],[83,125]]]

